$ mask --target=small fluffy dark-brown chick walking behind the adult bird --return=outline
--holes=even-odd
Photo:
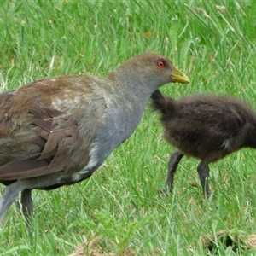
[[[210,196],[209,163],[241,148],[256,148],[256,113],[235,98],[196,95],[175,101],[160,90],[151,97],[154,109],[160,111],[166,141],[178,149],[168,164],[166,189],[170,192],[183,155],[201,160],[197,172],[204,194]]]

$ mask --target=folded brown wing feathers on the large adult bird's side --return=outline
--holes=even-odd
[[[0,180],[44,176],[72,166],[73,148],[79,148],[82,143],[78,125],[70,116],[54,108],[33,108],[30,113],[35,134],[30,143],[38,145],[41,152],[0,166]],[[84,158],[88,162],[89,159]]]

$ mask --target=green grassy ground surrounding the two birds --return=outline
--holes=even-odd
[[[168,55],[191,79],[189,85],[166,85],[166,94],[228,94],[256,109],[255,9],[253,0],[2,0],[1,90],[65,73],[105,76],[132,55],[154,51]],[[68,255],[79,244],[84,255],[208,255],[202,236],[218,230],[254,234],[253,150],[211,166],[210,200],[201,195],[198,161],[183,159],[174,193],[164,197],[157,189],[174,148],[161,132],[148,108],[137,131],[89,180],[35,190],[31,234],[12,206],[0,227],[0,255]],[[215,253],[256,255],[223,244]]]

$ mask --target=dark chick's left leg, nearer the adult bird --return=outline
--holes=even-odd
[[[166,188],[161,189],[160,192],[166,192],[166,190],[169,191],[170,193],[172,192],[172,184],[173,184],[174,174],[177,170],[177,165],[182,158],[183,158],[183,154],[181,154],[179,151],[176,151],[173,154],[171,154],[170,160],[168,162]]]

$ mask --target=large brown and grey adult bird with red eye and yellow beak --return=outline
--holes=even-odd
[[[32,189],[78,183],[131,136],[149,97],[189,79],[163,55],[144,53],[103,79],[65,75],[0,94],[0,221],[21,192],[32,212]]]

